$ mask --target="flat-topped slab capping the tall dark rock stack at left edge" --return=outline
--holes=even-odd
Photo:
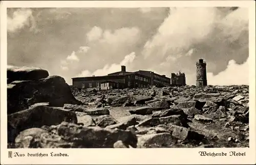
[[[15,80],[38,80],[41,78],[46,78],[48,76],[49,76],[48,71],[41,68],[35,68],[35,67],[29,67],[29,66],[23,66],[23,67],[8,66],[7,67],[7,78],[9,83]]]

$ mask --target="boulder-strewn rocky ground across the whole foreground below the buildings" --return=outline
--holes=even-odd
[[[39,68],[8,71],[9,148],[249,147],[248,86],[86,93]]]

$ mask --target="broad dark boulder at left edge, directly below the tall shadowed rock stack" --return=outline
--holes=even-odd
[[[58,125],[63,121],[77,123],[74,112],[50,106],[34,106],[7,116],[8,142],[12,142],[16,135],[28,128],[40,128],[43,125]]]

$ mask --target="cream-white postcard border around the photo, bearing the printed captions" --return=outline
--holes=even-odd
[[[249,9],[249,148],[154,149],[7,149],[7,8],[13,7],[248,7]],[[236,76],[236,75],[234,75]],[[255,2],[254,1],[1,1],[1,164],[253,164],[255,160]],[[67,153],[69,157],[13,157],[19,153]],[[199,151],[246,153],[200,156]]]

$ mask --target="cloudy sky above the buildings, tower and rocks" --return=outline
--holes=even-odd
[[[209,85],[249,84],[246,8],[8,8],[8,65],[72,77],[152,70],[185,72],[207,62]]]

